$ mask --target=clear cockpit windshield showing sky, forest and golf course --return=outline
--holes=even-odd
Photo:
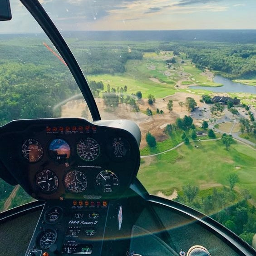
[[[23,0],[26,2],[25,0]],[[102,120],[142,133],[138,179],[252,244],[256,233],[255,0],[39,0]],[[0,23],[0,125],[93,120],[63,56],[19,0]],[[0,180],[0,211],[33,198]]]

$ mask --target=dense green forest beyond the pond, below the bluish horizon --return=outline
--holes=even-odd
[[[162,43],[159,49],[185,53],[197,68],[218,71],[229,78],[256,77],[256,44]]]

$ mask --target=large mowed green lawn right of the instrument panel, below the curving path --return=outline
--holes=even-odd
[[[182,145],[176,150],[142,159],[138,178],[148,192],[182,190],[185,184],[199,186],[200,189],[228,186],[227,176],[237,173],[240,181],[236,189],[247,189],[256,202],[256,152],[234,143],[226,151],[222,142],[197,142],[199,148]],[[148,165],[148,161],[151,161]]]

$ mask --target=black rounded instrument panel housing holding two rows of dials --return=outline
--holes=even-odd
[[[140,136],[128,120],[12,121],[0,128],[1,176],[39,200],[117,198],[137,175]]]

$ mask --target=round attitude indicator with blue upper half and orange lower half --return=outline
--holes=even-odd
[[[69,144],[63,139],[54,139],[49,144],[49,155],[53,159],[68,159],[70,156]]]

